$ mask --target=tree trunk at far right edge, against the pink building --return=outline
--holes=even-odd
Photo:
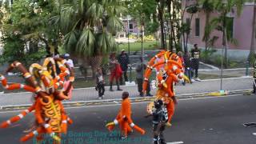
[[[251,32],[251,42],[250,42],[250,54],[248,55],[248,61],[250,61],[250,63],[254,63],[252,62],[254,60],[254,55],[256,54],[256,48],[255,48],[255,29],[256,29],[256,6],[255,6],[256,0],[254,0],[254,18],[253,18],[253,30]]]

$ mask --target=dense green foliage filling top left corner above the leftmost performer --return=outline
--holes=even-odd
[[[18,60],[28,64],[50,54],[50,46],[58,47],[58,32],[48,23],[50,14],[54,14],[53,2],[15,0],[11,8],[2,7],[6,13],[1,26],[4,43],[1,62]]]

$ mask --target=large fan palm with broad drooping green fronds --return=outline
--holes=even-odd
[[[89,61],[93,72],[102,56],[116,50],[125,8],[119,0],[55,0],[59,14],[50,19],[64,35],[64,48]],[[94,73],[93,73],[94,74]]]

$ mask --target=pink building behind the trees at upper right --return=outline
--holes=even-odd
[[[183,0],[182,7],[184,9],[185,3],[187,6],[194,3],[194,0]],[[242,14],[238,16],[234,9],[233,12],[227,15],[231,24],[229,29],[233,31],[231,34],[232,38],[235,38],[238,41],[238,45],[228,43],[228,56],[229,58],[241,59],[244,60],[247,58],[250,51],[250,43],[253,30],[253,15],[254,15],[254,2],[246,2],[243,6]],[[217,13],[210,14],[210,19],[217,17]],[[190,14],[185,13],[183,21],[186,22],[187,18],[190,18]],[[191,22],[191,32],[189,35],[189,48],[193,47],[194,43],[197,43],[198,46],[202,49],[205,48],[205,42],[202,42],[204,35],[204,27],[206,25],[206,14],[201,10],[197,14],[194,14]],[[217,36],[218,40],[214,43],[214,49],[218,50],[217,54],[220,54],[222,51],[222,32],[214,30],[210,38]],[[254,41],[256,39],[254,38]]]

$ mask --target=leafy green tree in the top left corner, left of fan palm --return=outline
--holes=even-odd
[[[46,55],[43,46],[38,44],[39,36],[46,35],[43,30],[50,13],[39,5],[41,2],[17,0],[11,7],[6,6],[6,18],[2,23],[3,61],[18,59],[28,63]]]

